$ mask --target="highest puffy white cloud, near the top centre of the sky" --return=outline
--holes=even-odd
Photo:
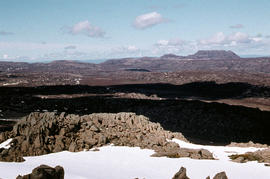
[[[151,12],[136,17],[134,27],[137,29],[146,29],[157,24],[166,22],[166,20],[157,12]]]

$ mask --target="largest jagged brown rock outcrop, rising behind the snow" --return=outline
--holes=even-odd
[[[0,160],[23,161],[36,156],[68,150],[78,152],[106,144],[153,149],[157,155],[210,159],[206,150],[181,149],[167,141],[185,140],[181,133],[165,131],[159,123],[134,113],[96,113],[85,116],[56,113],[31,113],[21,119],[9,134],[9,149],[1,149]],[[177,155],[172,156],[173,153]],[[162,154],[162,155],[161,155]]]

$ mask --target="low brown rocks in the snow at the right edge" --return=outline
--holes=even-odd
[[[247,152],[245,154],[231,155],[230,158],[233,162],[246,163],[248,161],[258,161],[270,165],[270,149],[257,150],[255,152]]]

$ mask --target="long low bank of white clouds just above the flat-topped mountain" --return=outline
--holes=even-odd
[[[210,38],[186,41],[182,39],[162,39],[152,47],[155,56],[166,53],[187,55],[198,50],[232,50],[237,54],[270,54],[270,39],[266,36],[251,36],[247,33],[236,32],[225,34],[218,32]]]

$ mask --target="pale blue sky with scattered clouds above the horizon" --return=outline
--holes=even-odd
[[[270,55],[269,0],[1,0],[0,60]]]

